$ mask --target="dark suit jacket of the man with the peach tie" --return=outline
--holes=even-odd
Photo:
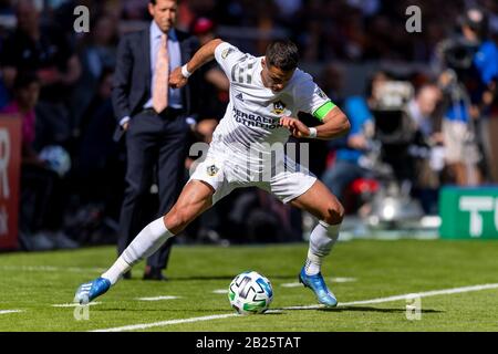
[[[180,45],[181,64],[187,63],[199,49],[196,37],[175,30]],[[196,116],[198,112],[197,75],[181,87],[181,97],[186,116]],[[120,139],[123,131],[120,121],[126,116],[132,119],[143,110],[151,97],[151,28],[124,35],[117,50],[117,64],[113,82],[113,108],[117,119],[114,139]]]

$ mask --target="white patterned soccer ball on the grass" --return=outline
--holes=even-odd
[[[270,281],[255,271],[238,274],[228,288],[228,300],[239,314],[263,313],[273,300]]]

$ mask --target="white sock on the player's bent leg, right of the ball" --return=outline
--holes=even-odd
[[[339,238],[341,223],[329,225],[320,221],[310,235],[310,248],[304,266],[307,275],[314,275],[321,272],[323,259],[332,251],[332,247]]]

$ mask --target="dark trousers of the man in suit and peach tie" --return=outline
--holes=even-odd
[[[157,115],[146,110],[129,121],[126,132],[126,189],[121,209],[117,252],[121,254],[151,221],[167,214],[181,189],[187,153],[185,118],[178,112]],[[154,176],[154,174],[157,174]],[[151,186],[157,181],[159,209],[147,212]],[[147,266],[165,269],[173,238],[147,259]]]

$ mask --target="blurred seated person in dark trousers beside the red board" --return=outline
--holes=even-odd
[[[19,73],[13,92],[14,101],[2,113],[19,115],[22,119],[21,243],[25,250],[77,247],[61,231],[65,200],[61,176],[32,146],[40,82],[34,74]]]

